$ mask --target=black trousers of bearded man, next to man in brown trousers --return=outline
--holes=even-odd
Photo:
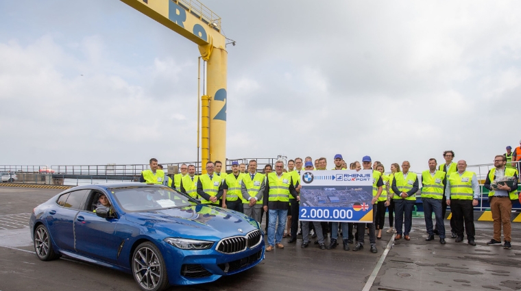
[[[474,240],[476,229],[474,229],[474,207],[472,200],[450,199],[450,211],[454,218],[455,233],[459,238],[463,238],[463,223],[468,240]]]

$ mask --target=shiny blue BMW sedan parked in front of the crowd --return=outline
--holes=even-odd
[[[131,273],[142,290],[215,281],[264,257],[263,232],[239,212],[160,185],[71,188],[34,208],[36,255],[61,255]]]

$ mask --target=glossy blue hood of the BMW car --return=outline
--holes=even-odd
[[[193,205],[150,212],[131,212],[126,220],[169,236],[183,238],[226,238],[244,236],[258,229],[253,218],[209,205]]]

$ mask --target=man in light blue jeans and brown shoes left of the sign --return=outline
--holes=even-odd
[[[278,160],[275,163],[275,173],[269,173],[267,177],[267,185],[264,190],[263,208],[267,212],[269,209],[268,224],[268,246],[266,251],[273,251],[276,246],[278,249],[284,249],[284,245],[280,243],[282,233],[286,226],[286,218],[289,209],[289,195],[291,194],[297,201],[300,201],[298,193],[298,182],[295,187],[291,174],[284,173],[284,162]],[[297,189],[295,189],[297,188]],[[278,218],[278,225],[276,222]],[[277,229],[277,231],[275,231]],[[324,243],[321,249],[326,246]]]

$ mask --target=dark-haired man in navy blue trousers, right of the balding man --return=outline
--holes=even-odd
[[[439,243],[445,244],[444,216],[441,214],[441,200],[444,199],[446,184],[445,172],[436,170],[436,159],[428,160],[428,170],[422,172],[422,202],[424,205],[425,227],[428,237],[426,241],[434,240],[433,211],[439,235]]]

